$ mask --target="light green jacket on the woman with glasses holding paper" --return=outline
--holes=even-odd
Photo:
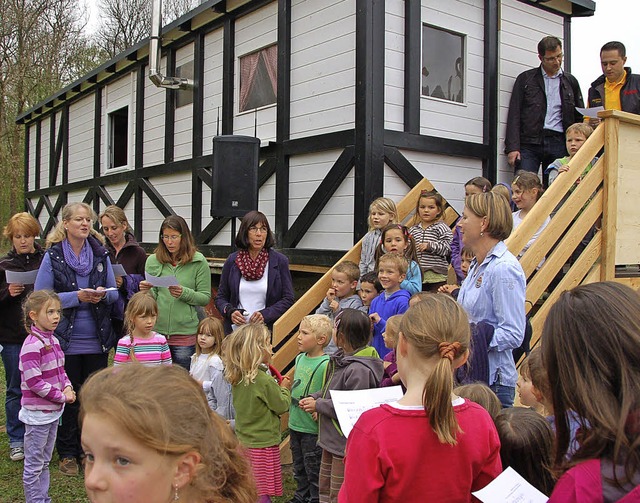
[[[182,294],[174,298],[168,288],[153,287],[149,292],[158,302],[155,331],[168,336],[192,335],[198,330],[195,306],[206,306],[211,300],[211,271],[204,255],[196,252],[187,264],[162,264],[156,255],[149,255],[144,267],[153,276],[175,276],[182,286]]]

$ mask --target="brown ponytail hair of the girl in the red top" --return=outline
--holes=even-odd
[[[438,357],[433,372],[427,377],[422,400],[429,424],[441,443],[455,445],[460,431],[453,406],[453,359],[440,358],[441,345],[455,345],[454,359],[469,348],[471,331],[464,309],[449,295],[425,297],[402,316],[400,333],[414,347],[419,357]]]

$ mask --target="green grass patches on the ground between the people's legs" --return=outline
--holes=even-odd
[[[9,437],[5,429],[4,397],[6,385],[4,366],[0,361],[0,503],[19,503],[24,501],[22,491],[22,462],[9,459]],[[84,490],[84,478],[68,477],[58,471],[58,454],[53,453],[51,460],[51,484],[49,496],[56,503],[86,503],[89,501]],[[273,498],[274,503],[285,503],[293,497],[295,482],[291,470],[283,470],[284,495]]]

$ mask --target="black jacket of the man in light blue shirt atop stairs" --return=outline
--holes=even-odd
[[[518,75],[507,117],[505,152],[520,150],[521,144],[541,145],[544,134],[544,118],[547,114],[547,95],[540,66]],[[582,92],[576,78],[563,72],[560,77],[560,100],[562,102],[562,128],[564,131],[575,123],[582,122],[576,107],[584,107]]]

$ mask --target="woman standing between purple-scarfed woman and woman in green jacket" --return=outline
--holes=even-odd
[[[133,237],[133,230],[129,226],[127,216],[122,209],[115,205],[107,206],[100,215],[102,232],[107,238],[107,250],[112,264],[120,264],[127,273],[116,276],[118,287],[118,301],[113,305],[111,321],[118,335],[123,332],[124,310],[129,299],[140,288],[140,281],[144,279],[144,265],[147,253]]]

